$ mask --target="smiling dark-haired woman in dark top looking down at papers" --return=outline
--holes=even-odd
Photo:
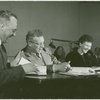
[[[84,34],[79,38],[78,43],[79,46],[67,54],[66,61],[71,61],[70,64],[74,67],[95,66],[95,59],[91,51],[93,38]]]

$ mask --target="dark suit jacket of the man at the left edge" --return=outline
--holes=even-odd
[[[8,84],[23,79],[25,72],[21,66],[8,68],[7,53],[4,45],[0,45],[0,98],[5,94]],[[6,97],[5,97],[6,98]]]

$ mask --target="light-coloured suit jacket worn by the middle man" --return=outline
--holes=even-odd
[[[52,69],[52,66],[53,66],[52,58],[51,58],[50,54],[48,54],[44,50],[42,50],[41,58],[40,58],[39,56],[36,55],[36,53],[32,53],[31,54],[30,50],[26,46],[21,51],[19,51],[18,54],[16,55],[16,57],[15,57],[15,59],[13,61],[13,66],[19,63],[21,57],[29,60],[34,65],[36,64],[38,66],[47,66],[47,72],[53,72],[53,69]]]

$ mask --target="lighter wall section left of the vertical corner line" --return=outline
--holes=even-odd
[[[16,37],[9,40],[8,55],[14,56],[25,45],[25,35],[31,29],[44,32],[46,45],[51,38],[76,40],[79,35],[79,4],[77,2],[0,2],[0,9],[8,9],[18,16]],[[68,44],[58,42],[68,52]]]

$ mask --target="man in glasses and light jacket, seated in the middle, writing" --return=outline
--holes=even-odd
[[[16,66],[21,57],[23,57],[34,64],[34,67],[36,68],[34,72],[37,74],[40,73],[39,68],[42,70],[41,66],[46,66],[47,72],[65,71],[66,69],[70,69],[70,65],[66,62],[59,63],[56,61],[56,64],[54,64],[55,61],[53,60],[55,58],[52,59],[51,54],[46,51],[44,47],[44,37],[40,30],[29,31],[26,35],[26,43],[26,47],[18,53],[11,65]]]

